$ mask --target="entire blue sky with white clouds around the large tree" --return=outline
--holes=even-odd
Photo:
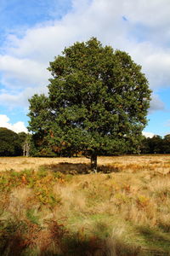
[[[28,99],[48,94],[54,56],[96,37],[142,66],[152,100],[144,135],[170,134],[169,0],[0,0],[0,127],[27,131]]]

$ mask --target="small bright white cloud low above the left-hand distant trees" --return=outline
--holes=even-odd
[[[26,133],[28,132],[26,129],[26,126],[24,125],[24,122],[19,121],[12,125],[9,123],[9,121],[10,119],[8,118],[7,115],[0,114],[0,127],[8,128],[9,130],[12,130],[17,133],[21,131],[25,131]]]

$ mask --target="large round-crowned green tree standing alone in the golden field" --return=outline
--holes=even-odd
[[[82,151],[97,169],[97,155],[138,148],[150,89],[131,57],[96,39],[65,48],[50,62],[48,96],[30,99],[29,129],[48,147]]]

